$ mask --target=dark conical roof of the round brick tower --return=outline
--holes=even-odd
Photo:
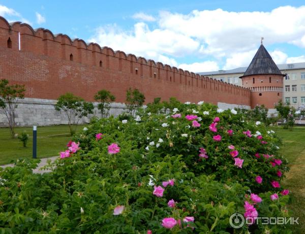
[[[246,72],[239,78],[258,74],[279,74],[285,76],[281,73],[275,62],[273,62],[272,57],[262,44],[253,57],[253,60]]]

